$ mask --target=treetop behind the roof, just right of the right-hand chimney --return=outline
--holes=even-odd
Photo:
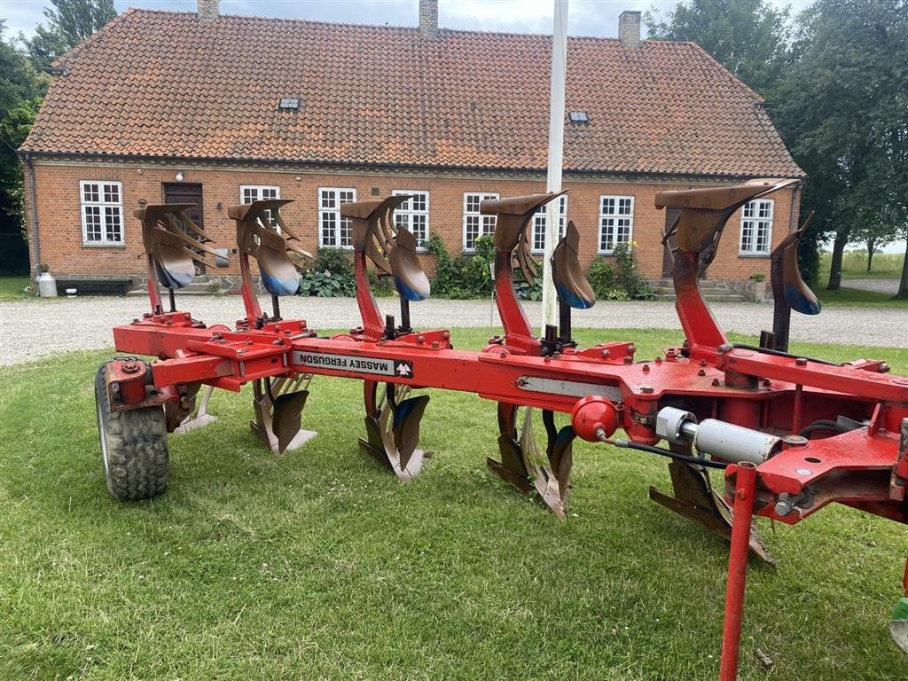
[[[788,9],[767,0],[681,0],[666,16],[646,12],[649,37],[692,41],[764,94],[785,66]]]

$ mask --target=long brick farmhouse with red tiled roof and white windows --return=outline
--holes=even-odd
[[[293,199],[304,248],[348,247],[341,202],[391,192],[415,196],[400,220],[420,241],[469,252],[494,229],[480,200],[544,191],[550,36],[439,29],[434,0],[415,28],[198,10],[127,10],[54,63],[20,149],[33,268],[141,277],[133,210],[158,202],[196,203],[228,247],[229,205]],[[696,44],[641,41],[638,12],[617,39],[568,39],[567,108],[561,210],[585,264],[631,240],[643,274],[666,276],[656,192],[803,176],[759,95]],[[767,273],[798,203],[795,189],[746,205],[709,278]]]

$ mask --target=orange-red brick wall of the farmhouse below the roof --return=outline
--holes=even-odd
[[[464,192],[498,192],[502,197],[545,191],[543,180],[502,180],[498,178],[447,178],[419,174],[317,174],[284,171],[242,171],[196,169],[174,166],[143,166],[137,164],[66,164],[35,163],[38,195],[38,217],[41,232],[41,260],[55,274],[102,275],[138,274],[144,263],[140,225],[133,217],[139,200],[163,202],[163,183],[173,183],[178,171],[183,171],[184,183],[202,183],[204,228],[212,235],[215,246],[235,245],[235,226],[227,217],[227,206],[240,202],[240,185],[274,185],[281,187],[282,199],[295,202],[283,209],[288,226],[302,240],[302,247],[314,252],[318,248],[318,189],[319,187],[355,187],[357,198],[368,200],[385,197],[395,189],[429,192],[429,231],[439,233],[449,251],[463,250]],[[82,237],[82,217],[79,196],[81,180],[116,181],[123,183],[124,243],[119,247],[86,246]],[[665,225],[665,212],[654,208],[656,192],[665,189],[686,189],[689,184],[618,183],[568,180],[568,218],[577,224],[581,233],[580,260],[586,266],[597,255],[599,196],[603,194],[635,197],[633,240],[644,276],[662,276],[663,247],[659,242]],[[28,192],[26,192],[27,196]],[[792,222],[792,190],[777,192],[773,222],[773,244],[780,242],[790,231]],[[220,208],[219,208],[220,204]],[[797,206],[795,206],[795,210]],[[29,207],[30,210],[30,207]],[[31,222],[28,222],[31,225]],[[708,277],[720,280],[744,280],[754,272],[768,275],[769,258],[739,257],[738,238],[740,212],[729,221],[723,240],[710,267]],[[34,235],[32,264],[35,265]],[[423,256],[427,269],[434,263]],[[235,259],[234,259],[235,260]],[[212,273],[237,274],[235,264]]]

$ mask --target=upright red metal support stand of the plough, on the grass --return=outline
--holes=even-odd
[[[725,626],[722,631],[722,662],[719,666],[719,681],[735,681],[737,678],[755,489],[756,466],[747,461],[738,464],[735,477],[732,548],[728,555],[728,584],[725,590]]]

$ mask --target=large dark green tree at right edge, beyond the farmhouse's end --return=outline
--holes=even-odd
[[[908,222],[908,4],[818,0],[798,20],[770,111],[808,175],[814,233],[834,235],[837,289],[849,241]]]

